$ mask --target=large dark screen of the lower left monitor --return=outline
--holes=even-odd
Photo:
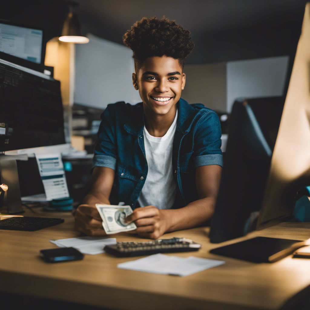
[[[0,98],[0,151],[65,144],[59,81],[0,59]]]

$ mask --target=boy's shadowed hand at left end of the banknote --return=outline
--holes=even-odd
[[[74,228],[88,236],[106,236],[102,226],[102,219],[95,206],[80,205],[75,212]]]

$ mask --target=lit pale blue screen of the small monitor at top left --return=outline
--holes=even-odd
[[[37,64],[42,61],[43,30],[0,21],[0,51]]]

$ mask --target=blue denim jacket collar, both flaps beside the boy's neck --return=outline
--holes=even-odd
[[[188,104],[184,99],[180,98],[177,103],[178,108],[178,120],[177,127],[182,133],[187,133],[195,119],[197,113],[190,104]],[[143,103],[140,102],[134,106],[134,108],[129,113],[128,119],[124,125],[124,129],[131,135],[142,135],[144,128],[144,112]]]

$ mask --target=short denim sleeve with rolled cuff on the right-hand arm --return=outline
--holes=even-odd
[[[194,134],[194,168],[207,165],[223,166],[221,125],[214,111],[207,111],[197,123]]]

